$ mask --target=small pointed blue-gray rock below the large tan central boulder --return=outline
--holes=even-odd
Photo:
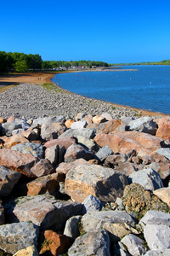
[[[88,197],[82,202],[82,215],[90,212],[98,212],[101,210],[101,201],[94,195]]]

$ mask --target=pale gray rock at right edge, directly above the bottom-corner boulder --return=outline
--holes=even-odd
[[[143,227],[147,224],[161,224],[170,227],[170,213],[150,210],[146,212],[143,218],[140,219],[139,224],[141,224]]]

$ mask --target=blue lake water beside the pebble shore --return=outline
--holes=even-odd
[[[65,90],[133,108],[170,114],[170,66],[130,66],[124,72],[59,73]]]

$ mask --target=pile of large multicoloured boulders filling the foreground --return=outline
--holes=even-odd
[[[32,98],[26,88],[17,87],[17,108],[35,100],[38,87]],[[104,112],[30,118],[39,112],[28,106],[27,119],[15,111],[0,119],[2,252],[169,255],[170,119]]]

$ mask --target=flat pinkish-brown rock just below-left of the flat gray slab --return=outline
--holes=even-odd
[[[44,147],[50,148],[50,147],[53,147],[54,145],[59,145],[59,148],[64,146],[67,149],[74,143],[77,143],[77,140],[74,137],[64,137],[64,138],[50,140],[47,143],[44,143]]]

